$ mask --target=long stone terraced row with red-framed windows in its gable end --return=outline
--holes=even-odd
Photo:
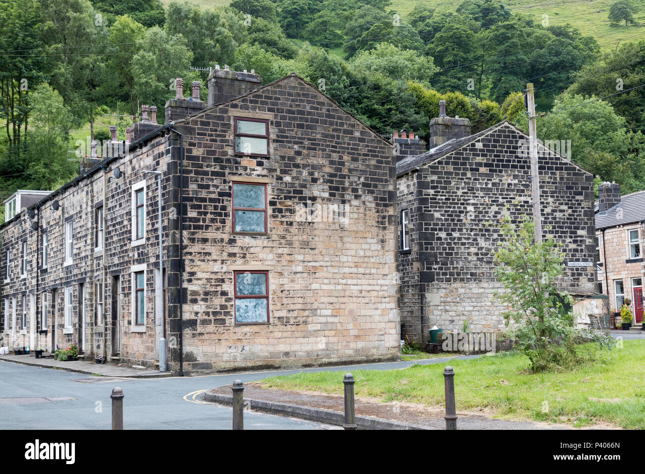
[[[398,360],[393,144],[296,75],[192,87],[0,227],[0,344],[155,368],[166,339],[179,373]]]

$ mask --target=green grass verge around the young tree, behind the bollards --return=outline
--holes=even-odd
[[[623,348],[598,353],[594,364],[562,373],[526,373],[519,353],[451,360],[457,410],[490,408],[495,416],[585,426],[610,422],[645,428],[645,341],[624,341]],[[415,365],[402,370],[357,370],[357,397],[375,397],[437,406],[444,403],[444,365]],[[341,372],[298,373],[272,377],[269,388],[338,393]],[[545,411],[546,410],[546,411]]]

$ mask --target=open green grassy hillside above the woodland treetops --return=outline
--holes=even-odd
[[[161,0],[168,5],[174,0]],[[621,41],[634,41],[645,37],[645,28],[642,30],[633,27],[625,28],[610,26],[607,19],[609,8],[615,0],[508,0],[504,5],[514,12],[524,13],[542,21],[542,15],[548,15],[550,25],[564,25],[570,23],[579,28],[584,34],[593,35],[600,43],[602,50],[615,48]],[[230,0],[191,0],[191,3],[202,8],[213,8],[228,5]],[[445,2],[443,0],[392,0],[392,10],[396,10],[403,20],[418,5],[430,5],[433,8],[446,8],[455,10],[461,1]],[[645,0],[635,0],[640,12],[635,15],[640,23],[645,23]]]

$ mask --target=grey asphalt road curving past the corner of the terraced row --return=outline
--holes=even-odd
[[[473,357],[473,356],[462,356]],[[461,357],[460,357],[461,358]],[[414,363],[439,364],[448,359],[362,364],[314,368],[306,371],[385,370]],[[212,388],[261,380],[272,375],[301,370],[263,371],[168,377],[164,379],[123,379],[92,377],[49,368],[0,362],[0,426],[10,430],[110,430],[112,388],[123,389],[124,429],[148,430],[230,430],[232,411],[201,401],[201,393]],[[342,375],[339,376],[339,383]],[[245,412],[245,430],[336,430],[337,426],[306,420]]]

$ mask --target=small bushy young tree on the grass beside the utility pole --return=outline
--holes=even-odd
[[[592,362],[593,357],[583,355],[577,342],[611,348],[613,339],[576,327],[573,298],[557,288],[564,273],[561,244],[553,237],[535,242],[533,221],[526,215],[516,219],[513,222],[509,215],[499,219],[502,240],[495,252],[495,277],[505,288],[495,291],[495,299],[507,308],[502,316],[510,337],[531,361],[533,372],[567,370]],[[549,231],[546,228],[547,235]]]

